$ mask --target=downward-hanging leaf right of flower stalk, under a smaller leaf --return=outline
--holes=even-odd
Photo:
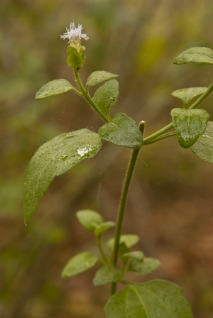
[[[105,83],[102,87],[97,89],[94,94],[93,100],[105,114],[109,114],[109,109],[116,103],[116,99],[119,95],[119,83],[116,79],[111,79]]]

